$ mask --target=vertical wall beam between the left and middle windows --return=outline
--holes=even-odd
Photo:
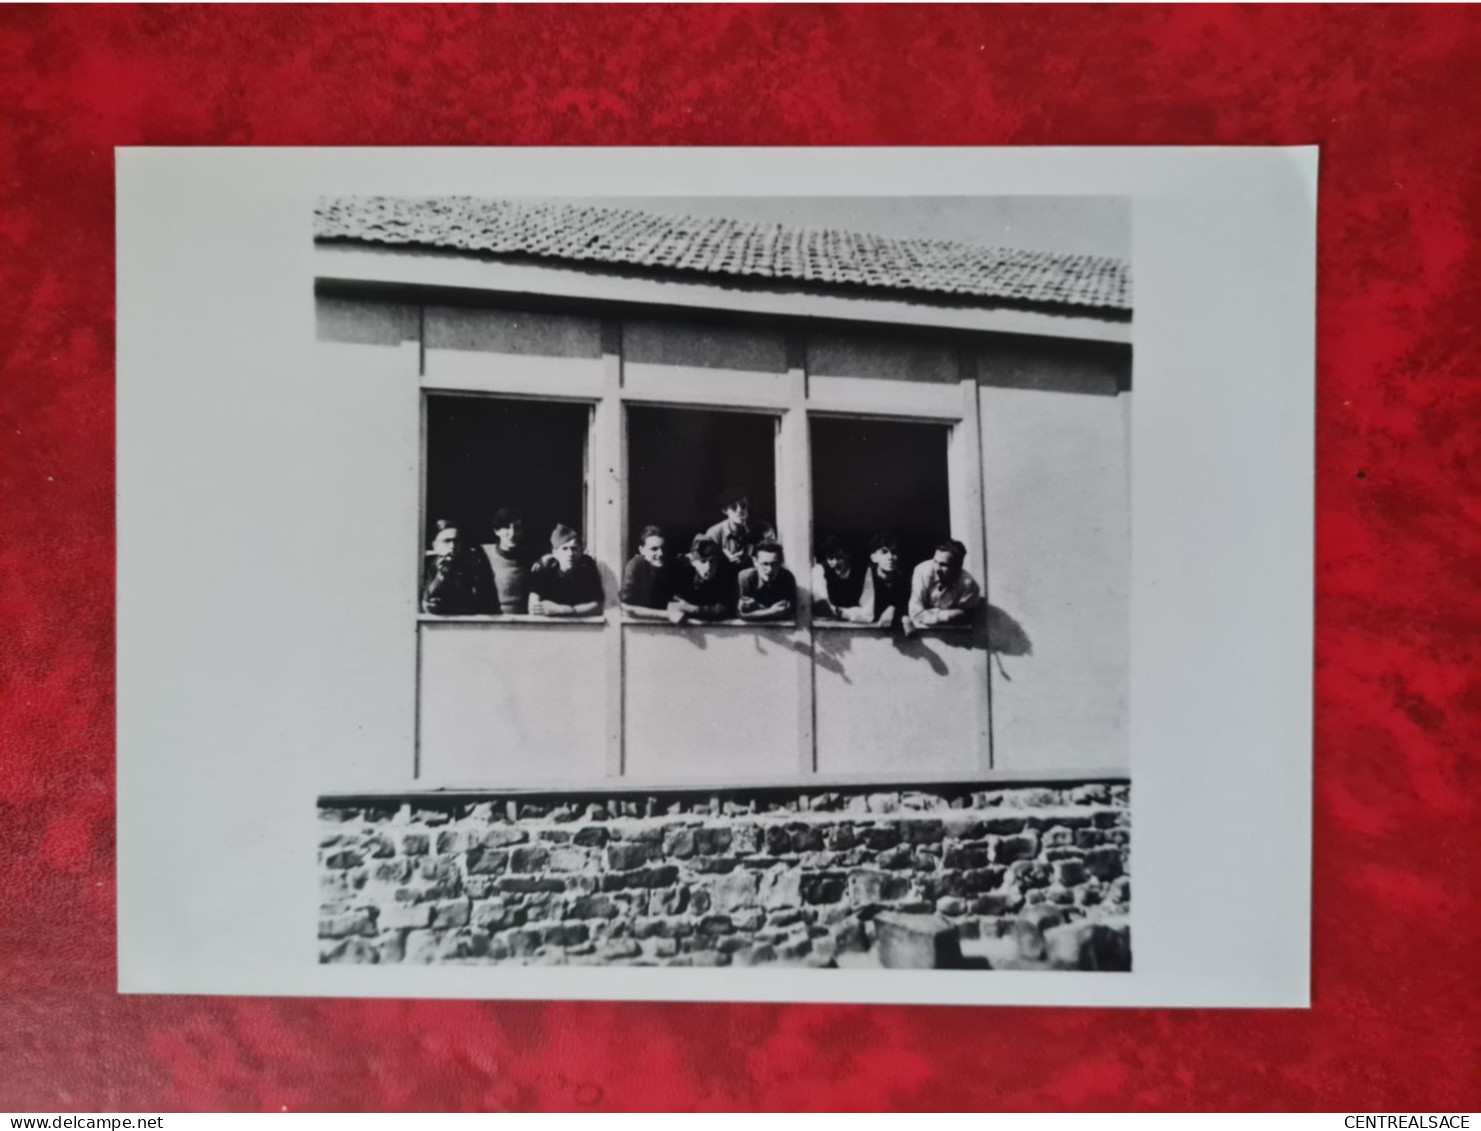
[[[592,555],[603,573],[607,626],[603,629],[607,672],[607,777],[624,771],[624,650],[622,583],[628,521],[626,428],[622,419],[622,324],[601,327],[603,391],[592,415],[591,491],[594,494]]]

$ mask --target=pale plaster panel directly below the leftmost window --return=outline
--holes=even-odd
[[[606,773],[606,651],[585,623],[422,623],[421,782],[508,786]]]

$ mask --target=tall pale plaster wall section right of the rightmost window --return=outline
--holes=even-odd
[[[983,385],[979,397],[989,632],[1003,665],[994,764],[1126,768],[1127,395]]]

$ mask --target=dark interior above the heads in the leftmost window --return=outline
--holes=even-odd
[[[459,526],[468,543],[493,542],[493,515],[524,515],[524,552],[549,552],[557,524],[586,527],[585,404],[501,397],[427,398],[427,508],[424,545],[435,523]]]

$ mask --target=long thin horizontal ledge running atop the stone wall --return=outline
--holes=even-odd
[[[388,801],[415,799],[486,799],[499,796],[538,798],[551,796],[564,801],[589,798],[600,801],[613,795],[653,793],[653,795],[770,795],[770,793],[828,793],[840,791],[857,792],[890,792],[890,791],[930,791],[930,789],[1000,789],[1000,788],[1063,788],[1074,785],[1130,785],[1131,773],[1124,768],[1090,767],[1071,770],[982,770],[973,774],[920,774],[906,780],[900,777],[878,777],[872,774],[831,774],[816,777],[772,777],[757,782],[726,783],[702,780],[655,782],[626,777],[613,779],[584,779],[572,783],[535,782],[526,785],[489,786],[489,785],[425,785],[407,782],[398,786],[382,786],[373,789],[354,789],[321,793],[320,805],[354,805],[378,804]],[[930,817],[943,810],[897,810],[887,816],[920,816]],[[949,810],[948,810],[949,811]],[[843,810],[829,810],[832,816],[847,816]],[[881,814],[874,814],[881,816]]]

